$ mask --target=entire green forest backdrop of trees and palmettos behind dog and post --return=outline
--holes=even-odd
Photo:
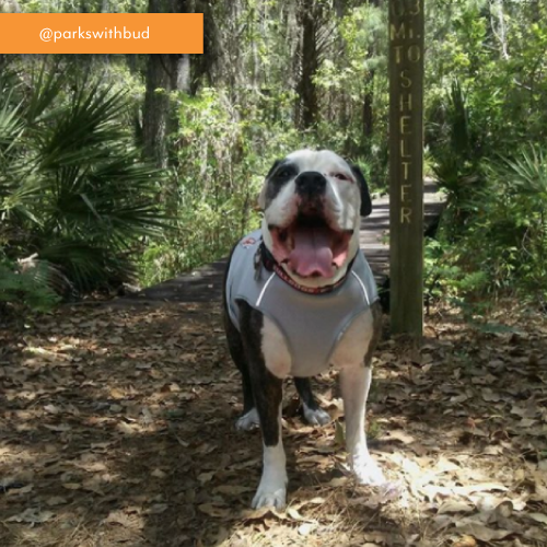
[[[150,286],[258,223],[275,159],[329,148],[387,188],[386,0],[0,0],[199,12],[203,55],[0,55],[0,305]],[[428,299],[547,302],[547,4],[426,1]]]

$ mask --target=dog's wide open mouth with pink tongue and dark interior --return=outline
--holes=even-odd
[[[353,230],[336,230],[322,217],[299,216],[288,226],[269,226],[274,257],[302,278],[330,278],[348,257]]]

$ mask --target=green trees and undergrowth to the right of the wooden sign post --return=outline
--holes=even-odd
[[[468,317],[547,298],[545,21],[539,4],[454,3],[429,56],[426,136],[449,202],[428,286]]]

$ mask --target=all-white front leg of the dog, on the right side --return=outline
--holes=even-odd
[[[364,415],[372,380],[372,368],[358,363],[340,371],[340,387],[346,415],[346,444],[349,463],[362,485],[382,485],[384,475],[366,446]]]

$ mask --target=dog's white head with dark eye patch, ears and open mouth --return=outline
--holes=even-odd
[[[264,243],[300,284],[344,277],[359,249],[361,217],[371,213],[359,167],[329,150],[299,150],[278,160],[259,197]]]

